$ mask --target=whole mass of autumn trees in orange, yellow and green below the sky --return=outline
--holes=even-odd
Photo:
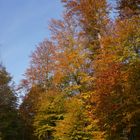
[[[11,78],[0,71],[0,138],[139,140],[139,0],[117,0],[113,21],[106,0],[62,4],[63,18],[31,55],[18,112]]]

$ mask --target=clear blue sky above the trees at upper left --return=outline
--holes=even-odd
[[[62,11],[60,0],[0,0],[0,61],[16,84],[31,52],[49,36],[50,19],[60,19]]]

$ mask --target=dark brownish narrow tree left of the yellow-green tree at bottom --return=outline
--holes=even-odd
[[[44,90],[40,86],[32,87],[29,93],[25,95],[23,102],[20,105],[19,112],[24,123],[23,132],[25,139],[37,139],[34,136],[33,121],[37,113],[37,104],[43,91]]]

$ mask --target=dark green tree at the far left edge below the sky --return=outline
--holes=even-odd
[[[21,121],[17,112],[17,97],[11,76],[0,65],[0,139],[21,140]]]

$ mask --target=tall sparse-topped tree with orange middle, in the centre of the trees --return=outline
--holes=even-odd
[[[65,14],[63,20],[52,20],[50,25],[56,44],[54,83],[70,94],[80,93],[89,85],[84,77],[88,76],[90,60],[78,28],[77,21]]]

